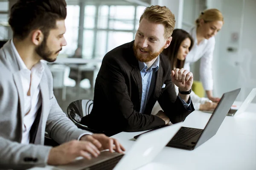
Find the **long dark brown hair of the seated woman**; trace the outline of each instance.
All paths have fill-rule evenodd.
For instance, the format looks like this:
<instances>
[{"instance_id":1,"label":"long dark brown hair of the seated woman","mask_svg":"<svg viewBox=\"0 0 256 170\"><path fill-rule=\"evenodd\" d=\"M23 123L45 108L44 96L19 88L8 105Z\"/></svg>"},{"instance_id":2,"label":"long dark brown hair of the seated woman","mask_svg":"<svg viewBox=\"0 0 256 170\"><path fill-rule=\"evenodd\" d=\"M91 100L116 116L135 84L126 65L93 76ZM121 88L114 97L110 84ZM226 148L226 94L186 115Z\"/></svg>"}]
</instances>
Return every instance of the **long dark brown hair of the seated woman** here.
<instances>
[{"instance_id":1,"label":"long dark brown hair of the seated woman","mask_svg":"<svg viewBox=\"0 0 256 170\"><path fill-rule=\"evenodd\" d=\"M169 47L164 49L162 52L163 54L166 54L166 56L169 58L171 62L172 70L174 70L174 68L184 67L185 60L181 61L177 59L177 54L178 54L181 43L186 38L189 38L191 41L191 45L189 47L189 51L190 51L194 45L194 40L191 37L191 35L188 32L184 31L183 29L175 29L172 33L172 41Z\"/></svg>"}]
</instances>

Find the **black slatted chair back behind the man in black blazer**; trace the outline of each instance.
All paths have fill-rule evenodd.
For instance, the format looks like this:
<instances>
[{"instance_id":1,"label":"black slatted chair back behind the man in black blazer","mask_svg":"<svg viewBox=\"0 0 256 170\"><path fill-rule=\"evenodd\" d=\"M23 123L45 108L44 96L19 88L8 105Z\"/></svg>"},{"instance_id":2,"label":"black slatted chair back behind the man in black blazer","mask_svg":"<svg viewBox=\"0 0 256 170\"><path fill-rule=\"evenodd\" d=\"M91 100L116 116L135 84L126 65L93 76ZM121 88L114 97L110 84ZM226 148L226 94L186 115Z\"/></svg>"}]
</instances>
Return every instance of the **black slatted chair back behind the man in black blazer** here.
<instances>
[{"instance_id":1,"label":"black slatted chair back behind the man in black blazer","mask_svg":"<svg viewBox=\"0 0 256 170\"><path fill-rule=\"evenodd\" d=\"M74 124L83 130L88 130L92 133L104 133L105 135L108 135L108 133L105 133L104 131L94 130L91 129L85 125L82 125L81 118L90 114L93 108L93 100L88 99L80 99L76 100L74 102L71 102L70 105L67 107L67 115L70 118Z\"/></svg>"}]
</instances>

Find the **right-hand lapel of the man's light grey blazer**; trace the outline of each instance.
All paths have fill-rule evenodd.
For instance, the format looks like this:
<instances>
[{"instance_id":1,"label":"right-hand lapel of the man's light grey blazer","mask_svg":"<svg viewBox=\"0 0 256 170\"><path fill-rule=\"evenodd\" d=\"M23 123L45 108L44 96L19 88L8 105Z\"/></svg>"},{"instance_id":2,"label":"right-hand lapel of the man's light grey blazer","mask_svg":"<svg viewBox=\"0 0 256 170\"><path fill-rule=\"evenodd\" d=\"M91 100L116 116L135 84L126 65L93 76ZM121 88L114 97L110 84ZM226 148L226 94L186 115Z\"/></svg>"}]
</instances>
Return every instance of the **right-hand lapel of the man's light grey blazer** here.
<instances>
[{"instance_id":1,"label":"right-hand lapel of the man's light grey blazer","mask_svg":"<svg viewBox=\"0 0 256 170\"><path fill-rule=\"evenodd\" d=\"M45 125L46 125L47 117L50 110L49 91L48 91L47 81L44 81L43 77L44 75L42 76L41 82L39 84L39 88L42 96L42 110L41 110L38 130L35 137L35 144L44 144Z\"/></svg>"}]
</instances>

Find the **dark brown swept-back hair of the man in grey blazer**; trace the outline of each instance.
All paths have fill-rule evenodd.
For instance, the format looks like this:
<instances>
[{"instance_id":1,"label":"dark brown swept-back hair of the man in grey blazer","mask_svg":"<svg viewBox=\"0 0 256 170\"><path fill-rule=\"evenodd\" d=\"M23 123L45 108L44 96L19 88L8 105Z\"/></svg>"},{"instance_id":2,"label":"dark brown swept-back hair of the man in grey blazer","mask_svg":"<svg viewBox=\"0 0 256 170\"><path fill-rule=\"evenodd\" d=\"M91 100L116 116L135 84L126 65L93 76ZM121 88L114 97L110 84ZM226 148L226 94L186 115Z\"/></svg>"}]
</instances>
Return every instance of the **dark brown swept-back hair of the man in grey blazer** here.
<instances>
[{"instance_id":1,"label":"dark brown swept-back hair of the man in grey blazer","mask_svg":"<svg viewBox=\"0 0 256 170\"><path fill-rule=\"evenodd\" d=\"M66 19L66 7L65 0L18 0L9 18L13 37L23 40L32 30L39 29L47 38L50 29L56 28L56 21Z\"/></svg>"}]
</instances>

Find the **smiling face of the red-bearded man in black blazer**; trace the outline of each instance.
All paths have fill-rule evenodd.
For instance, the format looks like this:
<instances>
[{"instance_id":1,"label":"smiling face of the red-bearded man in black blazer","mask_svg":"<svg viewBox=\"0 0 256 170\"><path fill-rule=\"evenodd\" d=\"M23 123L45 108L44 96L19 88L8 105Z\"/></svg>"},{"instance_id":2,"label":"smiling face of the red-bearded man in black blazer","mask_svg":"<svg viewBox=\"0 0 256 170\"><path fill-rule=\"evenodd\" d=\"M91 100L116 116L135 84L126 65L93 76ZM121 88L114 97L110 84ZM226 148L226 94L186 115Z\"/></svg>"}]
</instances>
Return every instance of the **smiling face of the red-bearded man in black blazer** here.
<instances>
[{"instance_id":1,"label":"smiling face of the red-bearded man in black blazer","mask_svg":"<svg viewBox=\"0 0 256 170\"><path fill-rule=\"evenodd\" d=\"M164 25L151 23L146 19L140 21L134 41L134 54L141 62L149 62L156 58L166 46Z\"/></svg>"}]
</instances>

